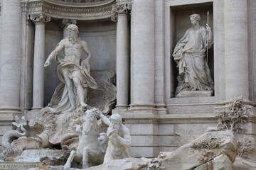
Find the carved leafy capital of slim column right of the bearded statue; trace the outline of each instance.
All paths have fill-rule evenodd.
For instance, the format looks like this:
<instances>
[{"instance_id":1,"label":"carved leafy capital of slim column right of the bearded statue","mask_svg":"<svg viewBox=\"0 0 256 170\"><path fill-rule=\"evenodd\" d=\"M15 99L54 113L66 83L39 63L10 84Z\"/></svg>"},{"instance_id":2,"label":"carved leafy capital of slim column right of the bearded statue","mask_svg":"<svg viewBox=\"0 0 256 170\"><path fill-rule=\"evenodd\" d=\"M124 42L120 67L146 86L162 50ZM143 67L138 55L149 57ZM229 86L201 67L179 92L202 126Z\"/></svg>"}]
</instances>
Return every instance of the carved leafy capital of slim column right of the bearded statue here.
<instances>
[{"instance_id":1,"label":"carved leafy capital of slim column right of the bearded statue","mask_svg":"<svg viewBox=\"0 0 256 170\"><path fill-rule=\"evenodd\" d=\"M121 5L114 5L112 6L112 11L114 14L111 16L111 20L117 22L117 18L121 14L128 15L132 10L132 4L121 4Z\"/></svg>"}]
</instances>

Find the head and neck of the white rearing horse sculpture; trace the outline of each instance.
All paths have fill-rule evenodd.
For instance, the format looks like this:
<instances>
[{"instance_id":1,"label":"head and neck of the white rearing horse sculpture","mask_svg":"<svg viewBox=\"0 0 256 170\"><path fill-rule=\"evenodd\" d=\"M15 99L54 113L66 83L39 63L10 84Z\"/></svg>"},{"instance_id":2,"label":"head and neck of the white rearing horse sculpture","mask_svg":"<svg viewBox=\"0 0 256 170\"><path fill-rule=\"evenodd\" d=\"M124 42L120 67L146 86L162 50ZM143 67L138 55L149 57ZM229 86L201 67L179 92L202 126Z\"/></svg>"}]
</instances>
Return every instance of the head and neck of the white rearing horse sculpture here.
<instances>
[{"instance_id":1,"label":"head and neck of the white rearing horse sculpture","mask_svg":"<svg viewBox=\"0 0 256 170\"><path fill-rule=\"evenodd\" d=\"M85 118L82 123L82 132L84 132L85 135L90 135L92 130L96 132L99 130L96 118L96 114L98 111L98 108L92 108L85 111Z\"/></svg>"}]
</instances>

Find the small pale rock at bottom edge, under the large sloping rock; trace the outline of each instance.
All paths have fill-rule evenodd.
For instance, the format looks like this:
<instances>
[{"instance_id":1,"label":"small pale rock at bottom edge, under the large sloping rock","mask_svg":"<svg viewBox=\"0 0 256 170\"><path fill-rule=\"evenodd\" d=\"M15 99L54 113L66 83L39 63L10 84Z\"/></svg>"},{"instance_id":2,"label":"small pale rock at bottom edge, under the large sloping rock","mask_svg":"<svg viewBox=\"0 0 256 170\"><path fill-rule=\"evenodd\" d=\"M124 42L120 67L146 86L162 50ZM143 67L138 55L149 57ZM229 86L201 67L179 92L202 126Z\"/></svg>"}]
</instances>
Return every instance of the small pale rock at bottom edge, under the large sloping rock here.
<instances>
[{"instance_id":1,"label":"small pale rock at bottom edge, under the large sloping rock","mask_svg":"<svg viewBox=\"0 0 256 170\"><path fill-rule=\"evenodd\" d=\"M206 169L232 170L232 162L230 162L230 159L225 154L221 154L220 156L215 157L215 159L213 159L212 161L196 167L194 170L206 170Z\"/></svg>"}]
</instances>

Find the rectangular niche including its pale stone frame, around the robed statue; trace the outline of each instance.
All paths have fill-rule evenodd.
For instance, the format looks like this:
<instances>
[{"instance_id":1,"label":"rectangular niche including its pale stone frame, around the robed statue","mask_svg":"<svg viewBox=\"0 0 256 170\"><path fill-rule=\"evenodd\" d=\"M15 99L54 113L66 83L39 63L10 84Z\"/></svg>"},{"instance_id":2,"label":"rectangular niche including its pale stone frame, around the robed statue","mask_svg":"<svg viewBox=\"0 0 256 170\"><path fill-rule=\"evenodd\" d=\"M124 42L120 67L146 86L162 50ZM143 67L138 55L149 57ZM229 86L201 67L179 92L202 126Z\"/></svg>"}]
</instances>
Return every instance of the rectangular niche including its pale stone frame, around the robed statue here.
<instances>
[{"instance_id":1,"label":"rectangular niche including its pale stone frame, around the robed statue","mask_svg":"<svg viewBox=\"0 0 256 170\"><path fill-rule=\"evenodd\" d=\"M206 26L207 12L209 11L209 26L213 31L213 40L215 42L214 27L214 8L213 1L185 1L166 2L166 98L174 98L177 86L178 69L177 64L172 57L174 47L178 40L185 34L186 30L191 27L189 16L198 13L201 16L201 25ZM215 82L215 43L213 47L208 50L208 66L210 68L210 75ZM169 64L167 64L169 63ZM215 91L213 96L215 96Z\"/></svg>"}]
</instances>

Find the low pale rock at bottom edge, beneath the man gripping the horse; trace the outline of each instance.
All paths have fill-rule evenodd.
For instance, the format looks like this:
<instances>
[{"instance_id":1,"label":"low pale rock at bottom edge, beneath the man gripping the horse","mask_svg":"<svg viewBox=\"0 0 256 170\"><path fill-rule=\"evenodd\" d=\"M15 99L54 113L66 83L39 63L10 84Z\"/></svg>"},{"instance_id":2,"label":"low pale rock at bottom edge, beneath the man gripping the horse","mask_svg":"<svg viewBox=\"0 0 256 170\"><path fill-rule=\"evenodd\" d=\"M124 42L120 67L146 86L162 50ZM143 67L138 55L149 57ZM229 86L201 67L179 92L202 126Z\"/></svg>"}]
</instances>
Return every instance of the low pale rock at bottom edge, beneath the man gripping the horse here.
<instances>
[{"instance_id":1,"label":"low pale rock at bottom edge, beneath the man gripping the horse","mask_svg":"<svg viewBox=\"0 0 256 170\"><path fill-rule=\"evenodd\" d=\"M87 170L135 170L135 169L144 169L147 167L147 164L151 159L142 158L126 158L126 159L116 159L106 164L99 166L90 167Z\"/></svg>"}]
</instances>

